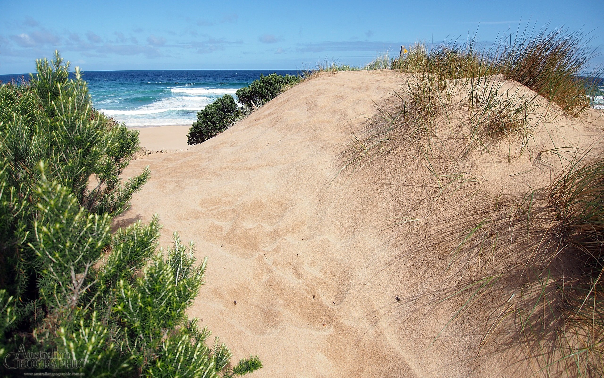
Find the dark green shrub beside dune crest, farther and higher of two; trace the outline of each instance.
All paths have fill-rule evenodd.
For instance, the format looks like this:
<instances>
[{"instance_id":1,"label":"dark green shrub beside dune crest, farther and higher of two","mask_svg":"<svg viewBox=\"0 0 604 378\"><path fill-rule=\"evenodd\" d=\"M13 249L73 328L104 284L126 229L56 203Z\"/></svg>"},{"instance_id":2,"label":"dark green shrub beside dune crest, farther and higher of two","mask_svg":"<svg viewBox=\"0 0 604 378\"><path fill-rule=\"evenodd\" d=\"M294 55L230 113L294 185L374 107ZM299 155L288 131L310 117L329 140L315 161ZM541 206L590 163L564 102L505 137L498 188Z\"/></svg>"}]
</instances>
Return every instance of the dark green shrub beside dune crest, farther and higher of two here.
<instances>
[{"instance_id":1,"label":"dark green shrub beside dune crest, farther and higher of two","mask_svg":"<svg viewBox=\"0 0 604 378\"><path fill-rule=\"evenodd\" d=\"M235 93L239 102L245 106L262 106L263 103L274 99L283 91L284 86L293 85L300 82L300 76L285 75L281 76L272 73L269 76L260 74L260 79L254 80L249 86L240 88Z\"/></svg>"}]
</instances>

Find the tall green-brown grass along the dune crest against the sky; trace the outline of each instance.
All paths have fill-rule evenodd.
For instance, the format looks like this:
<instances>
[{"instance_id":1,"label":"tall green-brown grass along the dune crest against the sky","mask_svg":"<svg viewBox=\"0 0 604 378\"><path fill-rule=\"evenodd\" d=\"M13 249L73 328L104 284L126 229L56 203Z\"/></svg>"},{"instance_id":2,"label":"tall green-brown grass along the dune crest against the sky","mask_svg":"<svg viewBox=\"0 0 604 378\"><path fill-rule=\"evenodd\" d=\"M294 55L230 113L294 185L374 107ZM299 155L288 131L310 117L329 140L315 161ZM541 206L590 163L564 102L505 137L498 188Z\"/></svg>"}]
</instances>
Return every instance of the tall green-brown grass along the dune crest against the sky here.
<instances>
[{"instance_id":1,"label":"tall green-brown grass along the dune crest against the sky","mask_svg":"<svg viewBox=\"0 0 604 378\"><path fill-rule=\"evenodd\" d=\"M503 74L527 86L567 116L579 116L590 106L585 93L590 79L580 77L595 56L590 39L564 28L525 29L505 35L492 48L479 48L475 39L443 42L428 49L416 44L409 52L391 60L391 68L402 72L429 71L445 79Z\"/></svg>"}]
</instances>

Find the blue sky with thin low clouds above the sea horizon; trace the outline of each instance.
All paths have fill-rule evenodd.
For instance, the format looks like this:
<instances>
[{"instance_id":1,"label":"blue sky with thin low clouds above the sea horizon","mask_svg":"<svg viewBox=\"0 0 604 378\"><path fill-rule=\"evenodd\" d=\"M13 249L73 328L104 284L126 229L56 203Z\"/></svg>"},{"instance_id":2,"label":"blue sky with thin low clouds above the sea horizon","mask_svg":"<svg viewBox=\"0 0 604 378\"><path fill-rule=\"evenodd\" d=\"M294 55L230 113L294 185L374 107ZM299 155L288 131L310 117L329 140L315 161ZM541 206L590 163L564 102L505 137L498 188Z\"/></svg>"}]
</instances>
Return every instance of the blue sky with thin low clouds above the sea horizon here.
<instances>
[{"instance_id":1,"label":"blue sky with thin low clouds above the sea horizon","mask_svg":"<svg viewBox=\"0 0 604 378\"><path fill-rule=\"evenodd\" d=\"M58 49L85 71L299 69L364 64L415 41L527 25L567 27L604 52L599 1L8 1L0 0L0 74L27 73ZM480 26L479 26L480 25ZM602 56L595 64L604 62Z\"/></svg>"}]
</instances>

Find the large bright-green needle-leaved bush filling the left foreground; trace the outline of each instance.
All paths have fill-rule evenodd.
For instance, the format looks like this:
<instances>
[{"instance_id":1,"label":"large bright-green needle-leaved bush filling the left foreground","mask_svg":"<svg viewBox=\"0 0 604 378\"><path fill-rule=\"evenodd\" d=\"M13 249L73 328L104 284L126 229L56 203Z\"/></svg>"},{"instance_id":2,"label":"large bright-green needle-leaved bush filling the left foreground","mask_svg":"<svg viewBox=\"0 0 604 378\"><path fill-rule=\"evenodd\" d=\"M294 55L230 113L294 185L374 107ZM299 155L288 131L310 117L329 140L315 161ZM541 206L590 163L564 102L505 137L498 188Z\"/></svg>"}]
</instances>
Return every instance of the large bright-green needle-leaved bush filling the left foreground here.
<instances>
[{"instance_id":1,"label":"large bright-green needle-leaved bush filling the left foreground","mask_svg":"<svg viewBox=\"0 0 604 378\"><path fill-rule=\"evenodd\" d=\"M157 250L159 223L111 233L148 169L122 183L138 134L91 108L79 68L37 60L29 83L0 86L2 376L216 377L231 353L188 320L205 260L193 245ZM13 370L14 368L14 370Z\"/></svg>"}]
</instances>

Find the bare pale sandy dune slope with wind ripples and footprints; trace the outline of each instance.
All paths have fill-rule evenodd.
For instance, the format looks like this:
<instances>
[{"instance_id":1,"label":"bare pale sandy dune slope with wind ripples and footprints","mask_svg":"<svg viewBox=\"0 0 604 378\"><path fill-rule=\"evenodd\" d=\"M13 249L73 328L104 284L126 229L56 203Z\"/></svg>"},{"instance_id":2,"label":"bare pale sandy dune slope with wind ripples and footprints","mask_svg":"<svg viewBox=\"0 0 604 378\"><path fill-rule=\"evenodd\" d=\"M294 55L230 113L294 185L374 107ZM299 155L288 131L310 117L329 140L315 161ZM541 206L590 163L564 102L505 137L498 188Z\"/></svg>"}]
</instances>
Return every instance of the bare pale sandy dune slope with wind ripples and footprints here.
<instances>
[{"instance_id":1,"label":"bare pale sandy dune slope with wind ripples and footprints","mask_svg":"<svg viewBox=\"0 0 604 378\"><path fill-rule=\"evenodd\" d=\"M190 316L220 336L234 359L258 354L265 368L255 376L501 377L538 370L509 336L513 322L475 358L490 314L512 301L521 282L472 299L474 307L442 333L468 297L439 301L492 274L463 256L447 270L452 250L464 230L494 212L502 187L503 198L515 198L547 182L551 171L543 167L555 165L552 158L539 165L538 152L511 163L477 158L454 167L468 179L444 189L425 165L402 165L402 157L330 180L336 155L366 121L359 115L374 114L374 102L404 80L391 71L324 74L201 145L128 168L133 174L149 165L152 178L118 224L158 213L162 244L178 231L196 242L198 258L209 256L207 283ZM554 124L534 148L600 132L564 119ZM495 260L489 269L509 269Z\"/></svg>"}]
</instances>

